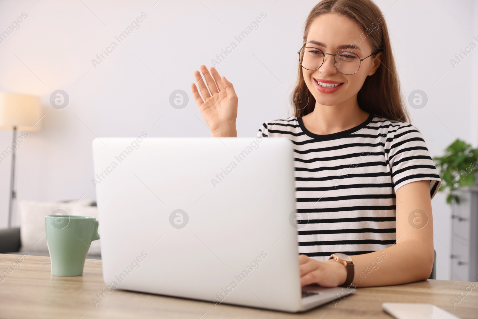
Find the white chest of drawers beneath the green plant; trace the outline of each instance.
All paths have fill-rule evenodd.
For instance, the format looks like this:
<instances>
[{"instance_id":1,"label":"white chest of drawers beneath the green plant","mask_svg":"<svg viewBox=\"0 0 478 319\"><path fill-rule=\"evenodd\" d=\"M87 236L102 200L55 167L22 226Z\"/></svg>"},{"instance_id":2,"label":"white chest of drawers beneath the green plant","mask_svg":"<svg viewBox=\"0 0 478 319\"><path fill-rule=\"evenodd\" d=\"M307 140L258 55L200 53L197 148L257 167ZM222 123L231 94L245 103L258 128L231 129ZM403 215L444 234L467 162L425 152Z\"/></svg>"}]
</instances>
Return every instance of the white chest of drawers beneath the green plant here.
<instances>
[{"instance_id":1,"label":"white chest of drawers beneath the green plant","mask_svg":"<svg viewBox=\"0 0 478 319\"><path fill-rule=\"evenodd\" d=\"M454 191L452 205L451 280L478 281L478 187Z\"/></svg>"}]
</instances>

